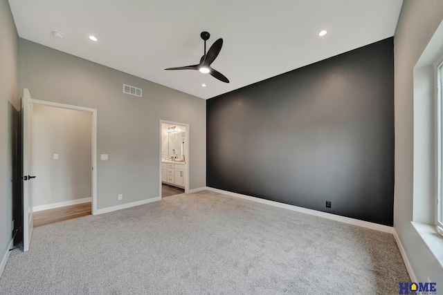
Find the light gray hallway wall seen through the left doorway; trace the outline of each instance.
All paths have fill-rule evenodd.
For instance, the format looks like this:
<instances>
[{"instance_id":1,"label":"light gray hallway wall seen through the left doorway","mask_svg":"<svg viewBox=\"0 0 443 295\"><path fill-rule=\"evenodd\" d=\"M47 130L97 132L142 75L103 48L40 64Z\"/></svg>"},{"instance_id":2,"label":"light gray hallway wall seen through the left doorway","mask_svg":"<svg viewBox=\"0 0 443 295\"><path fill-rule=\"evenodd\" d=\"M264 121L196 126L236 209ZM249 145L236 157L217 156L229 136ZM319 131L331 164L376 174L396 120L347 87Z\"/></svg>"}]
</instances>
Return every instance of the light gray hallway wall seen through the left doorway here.
<instances>
[{"instance_id":1,"label":"light gray hallway wall seen through the left doorway","mask_svg":"<svg viewBox=\"0 0 443 295\"><path fill-rule=\"evenodd\" d=\"M91 118L84 111L34 105L33 206L91 198Z\"/></svg>"}]
</instances>

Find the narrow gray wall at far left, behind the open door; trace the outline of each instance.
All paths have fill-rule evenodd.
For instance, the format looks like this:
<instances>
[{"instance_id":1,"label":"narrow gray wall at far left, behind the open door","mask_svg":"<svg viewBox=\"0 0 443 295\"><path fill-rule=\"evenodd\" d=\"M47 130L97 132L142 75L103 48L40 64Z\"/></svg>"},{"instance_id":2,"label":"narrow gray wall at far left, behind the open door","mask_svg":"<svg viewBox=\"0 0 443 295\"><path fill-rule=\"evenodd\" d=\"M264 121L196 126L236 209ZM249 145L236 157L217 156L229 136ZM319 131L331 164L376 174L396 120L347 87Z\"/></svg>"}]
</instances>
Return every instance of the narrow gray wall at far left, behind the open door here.
<instances>
[{"instance_id":1,"label":"narrow gray wall at far left, behind the open door","mask_svg":"<svg viewBox=\"0 0 443 295\"><path fill-rule=\"evenodd\" d=\"M0 263L12 238L12 114L17 100L18 37L7 0L0 0ZM15 108L15 110L14 110ZM1 270L0 270L1 271Z\"/></svg>"}]
</instances>

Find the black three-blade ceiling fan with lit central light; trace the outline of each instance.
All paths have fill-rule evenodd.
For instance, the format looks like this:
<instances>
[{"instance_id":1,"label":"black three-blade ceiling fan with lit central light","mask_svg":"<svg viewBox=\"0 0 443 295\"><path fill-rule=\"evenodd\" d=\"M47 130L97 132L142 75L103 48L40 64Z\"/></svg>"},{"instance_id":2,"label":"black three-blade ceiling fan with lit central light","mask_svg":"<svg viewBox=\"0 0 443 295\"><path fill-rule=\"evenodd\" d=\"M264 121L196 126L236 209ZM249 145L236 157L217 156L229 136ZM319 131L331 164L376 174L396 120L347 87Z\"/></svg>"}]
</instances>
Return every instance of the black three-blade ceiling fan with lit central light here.
<instances>
[{"instance_id":1,"label":"black three-blade ceiling fan with lit central light","mask_svg":"<svg viewBox=\"0 0 443 295\"><path fill-rule=\"evenodd\" d=\"M192 66L179 66L177 68L165 68L165 70L199 70L201 73L208 74L219 79L221 82L229 83L228 78L210 67L217 55L219 55L221 46L223 45L223 39L218 39L214 42L213 46L210 46L208 53L206 53L206 40L209 39L210 34L208 32L201 32L201 39L205 41L204 55L200 59L199 64Z\"/></svg>"}]
</instances>

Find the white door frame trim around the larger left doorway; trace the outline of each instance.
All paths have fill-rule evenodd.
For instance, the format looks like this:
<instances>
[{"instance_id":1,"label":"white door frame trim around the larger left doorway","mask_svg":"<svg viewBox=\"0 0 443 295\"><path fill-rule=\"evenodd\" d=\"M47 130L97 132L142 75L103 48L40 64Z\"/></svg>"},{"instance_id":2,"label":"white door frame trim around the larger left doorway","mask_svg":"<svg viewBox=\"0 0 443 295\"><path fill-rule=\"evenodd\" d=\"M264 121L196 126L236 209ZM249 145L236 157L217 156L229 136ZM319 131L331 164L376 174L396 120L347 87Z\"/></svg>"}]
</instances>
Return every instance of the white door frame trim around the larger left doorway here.
<instances>
[{"instance_id":1,"label":"white door frame trim around the larger left doorway","mask_svg":"<svg viewBox=\"0 0 443 295\"><path fill-rule=\"evenodd\" d=\"M57 102L46 102L44 100L33 99L33 104L39 104L42 106L53 106L55 108L66 108L68 110L83 111L91 113L92 122L92 200L91 200L91 213L92 215L97 214L97 109L96 108L85 108L83 106L72 106L71 104L59 104Z\"/></svg>"}]
</instances>

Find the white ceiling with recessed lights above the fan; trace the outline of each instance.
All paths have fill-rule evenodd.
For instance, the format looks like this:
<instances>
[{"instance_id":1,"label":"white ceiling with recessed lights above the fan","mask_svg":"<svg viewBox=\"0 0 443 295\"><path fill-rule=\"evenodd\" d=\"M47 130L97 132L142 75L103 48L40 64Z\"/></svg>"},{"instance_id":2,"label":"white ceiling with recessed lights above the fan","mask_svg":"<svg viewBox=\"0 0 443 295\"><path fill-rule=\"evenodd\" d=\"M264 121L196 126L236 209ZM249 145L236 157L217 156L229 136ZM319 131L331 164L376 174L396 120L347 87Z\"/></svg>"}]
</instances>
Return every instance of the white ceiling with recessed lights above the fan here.
<instances>
[{"instance_id":1,"label":"white ceiling with recessed lights above the fan","mask_svg":"<svg viewBox=\"0 0 443 295\"><path fill-rule=\"evenodd\" d=\"M204 99L391 37L402 2L9 0L20 37ZM164 70L198 64L204 30L208 48L224 39L212 66L229 84Z\"/></svg>"}]
</instances>

